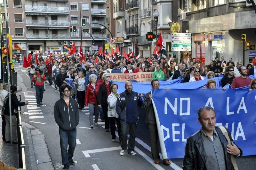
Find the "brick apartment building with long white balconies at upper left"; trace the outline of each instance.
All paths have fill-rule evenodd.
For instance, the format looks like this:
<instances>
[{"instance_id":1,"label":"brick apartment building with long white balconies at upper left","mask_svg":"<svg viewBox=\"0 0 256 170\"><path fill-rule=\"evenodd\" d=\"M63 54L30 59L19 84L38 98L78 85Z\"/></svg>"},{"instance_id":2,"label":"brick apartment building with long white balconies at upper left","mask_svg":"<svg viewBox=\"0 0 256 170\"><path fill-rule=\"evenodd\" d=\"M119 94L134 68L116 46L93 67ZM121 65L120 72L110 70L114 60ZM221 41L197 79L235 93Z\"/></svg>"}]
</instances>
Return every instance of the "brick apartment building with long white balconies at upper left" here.
<instances>
[{"instance_id":1,"label":"brick apartment building with long white balconies at upper left","mask_svg":"<svg viewBox=\"0 0 256 170\"><path fill-rule=\"evenodd\" d=\"M99 25L105 25L105 0L7 0L7 4L8 30L13 44L18 44L14 53L61 52L64 45L69 47L73 43L77 50L82 45L86 53L93 50L92 37L98 46L102 45L102 37L106 40L106 31L102 34ZM82 27L82 18L90 22L86 27ZM69 33L69 26L76 26L76 32ZM5 35L5 22L3 28Z\"/></svg>"}]
</instances>

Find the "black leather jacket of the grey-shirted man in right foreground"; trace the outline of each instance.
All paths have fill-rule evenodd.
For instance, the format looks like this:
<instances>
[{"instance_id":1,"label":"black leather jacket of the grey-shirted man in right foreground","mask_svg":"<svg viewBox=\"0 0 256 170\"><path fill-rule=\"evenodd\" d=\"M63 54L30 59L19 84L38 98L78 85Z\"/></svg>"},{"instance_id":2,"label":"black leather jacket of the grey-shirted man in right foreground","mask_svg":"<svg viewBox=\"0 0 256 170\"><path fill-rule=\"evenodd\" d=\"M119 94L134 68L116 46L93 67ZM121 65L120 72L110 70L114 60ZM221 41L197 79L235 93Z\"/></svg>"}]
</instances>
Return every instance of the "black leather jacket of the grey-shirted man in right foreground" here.
<instances>
[{"instance_id":1,"label":"black leather jacket of the grey-shirted man in right foreground","mask_svg":"<svg viewBox=\"0 0 256 170\"><path fill-rule=\"evenodd\" d=\"M227 128L226 128L227 129ZM224 150L224 158L226 163L226 170L234 170L234 167L231 163L230 154L227 152L227 144L228 141L226 137L222 134L220 128L215 127L215 130L217 131L220 142L222 145L222 148ZM228 131L228 129L227 129ZM230 141L233 141L231 138L231 134L228 131L228 136L230 138ZM187 144L185 148L185 157L183 159L183 169L195 169L195 170L207 170L206 167L206 156L204 152L203 147L203 140L201 138L201 131L197 131L194 135L189 136L187 138ZM241 151L240 157L243 155L243 151L238 148Z\"/></svg>"}]
</instances>

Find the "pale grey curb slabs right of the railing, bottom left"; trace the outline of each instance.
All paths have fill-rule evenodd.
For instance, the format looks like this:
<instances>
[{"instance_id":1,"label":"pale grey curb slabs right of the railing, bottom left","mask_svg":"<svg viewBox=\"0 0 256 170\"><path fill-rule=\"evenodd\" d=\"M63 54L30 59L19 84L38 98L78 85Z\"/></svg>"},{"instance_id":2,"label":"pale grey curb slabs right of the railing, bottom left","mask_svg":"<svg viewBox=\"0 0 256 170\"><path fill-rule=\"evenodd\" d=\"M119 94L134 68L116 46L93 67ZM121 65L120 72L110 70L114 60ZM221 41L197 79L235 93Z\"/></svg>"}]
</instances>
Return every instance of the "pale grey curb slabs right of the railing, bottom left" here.
<instances>
[{"instance_id":1,"label":"pale grey curb slabs right of the railing, bottom left","mask_svg":"<svg viewBox=\"0 0 256 170\"><path fill-rule=\"evenodd\" d=\"M31 168L33 170L54 170L44 134L28 123L21 123L27 132Z\"/></svg>"}]
</instances>

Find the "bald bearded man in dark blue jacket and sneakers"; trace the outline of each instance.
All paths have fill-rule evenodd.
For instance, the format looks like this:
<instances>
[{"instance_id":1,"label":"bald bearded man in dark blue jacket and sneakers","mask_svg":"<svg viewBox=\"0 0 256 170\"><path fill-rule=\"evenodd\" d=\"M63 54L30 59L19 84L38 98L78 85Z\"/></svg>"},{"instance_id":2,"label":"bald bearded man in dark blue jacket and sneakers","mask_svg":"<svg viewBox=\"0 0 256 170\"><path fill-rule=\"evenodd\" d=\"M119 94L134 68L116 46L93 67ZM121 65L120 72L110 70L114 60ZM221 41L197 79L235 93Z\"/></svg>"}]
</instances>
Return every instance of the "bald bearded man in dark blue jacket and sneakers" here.
<instances>
[{"instance_id":1,"label":"bald bearded man in dark blue jacket and sneakers","mask_svg":"<svg viewBox=\"0 0 256 170\"><path fill-rule=\"evenodd\" d=\"M139 122L139 111L138 107L142 106L142 101L140 95L132 91L132 82L125 82L125 91L118 96L116 101L116 112L119 115L121 123L121 147L120 155L124 155L127 148L127 135L130 135L128 143L128 153L130 155L136 155L134 152L135 147L135 133L137 128L137 123ZM119 137L120 138L120 137Z\"/></svg>"}]
</instances>

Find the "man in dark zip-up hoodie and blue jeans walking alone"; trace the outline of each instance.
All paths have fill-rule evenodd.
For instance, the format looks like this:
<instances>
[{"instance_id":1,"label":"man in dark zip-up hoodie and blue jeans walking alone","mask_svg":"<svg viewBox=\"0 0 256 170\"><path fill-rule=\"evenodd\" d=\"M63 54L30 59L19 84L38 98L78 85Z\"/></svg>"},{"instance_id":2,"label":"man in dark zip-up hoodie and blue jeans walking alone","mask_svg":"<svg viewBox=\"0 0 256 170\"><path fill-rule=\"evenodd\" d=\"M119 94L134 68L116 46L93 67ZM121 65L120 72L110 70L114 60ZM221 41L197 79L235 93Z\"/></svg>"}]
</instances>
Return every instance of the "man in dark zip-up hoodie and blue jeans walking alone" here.
<instances>
[{"instance_id":1,"label":"man in dark zip-up hoodie and blue jeans walking alone","mask_svg":"<svg viewBox=\"0 0 256 170\"><path fill-rule=\"evenodd\" d=\"M79 112L76 100L69 97L71 87L65 84L60 89L63 97L54 105L54 119L59 125L63 169L68 169L70 165L75 165L72 157L76 148L76 126L79 123Z\"/></svg>"}]
</instances>

